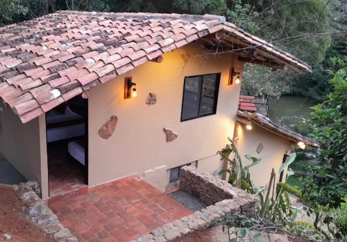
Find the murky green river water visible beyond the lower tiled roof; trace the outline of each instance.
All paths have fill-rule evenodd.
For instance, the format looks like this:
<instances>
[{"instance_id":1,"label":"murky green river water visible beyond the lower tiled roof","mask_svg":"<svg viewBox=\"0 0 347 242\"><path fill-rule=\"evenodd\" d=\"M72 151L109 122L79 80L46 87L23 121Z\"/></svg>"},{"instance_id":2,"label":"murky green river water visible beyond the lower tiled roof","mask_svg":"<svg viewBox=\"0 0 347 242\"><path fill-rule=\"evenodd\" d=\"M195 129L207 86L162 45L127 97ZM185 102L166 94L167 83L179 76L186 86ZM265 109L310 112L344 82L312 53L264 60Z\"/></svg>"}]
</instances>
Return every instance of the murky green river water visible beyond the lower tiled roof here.
<instances>
[{"instance_id":1,"label":"murky green river water visible beyond the lower tiled roof","mask_svg":"<svg viewBox=\"0 0 347 242\"><path fill-rule=\"evenodd\" d=\"M315 99L299 96L282 96L271 99L269 118L283 127L294 129L303 119L310 118L311 107L318 104Z\"/></svg>"}]
</instances>

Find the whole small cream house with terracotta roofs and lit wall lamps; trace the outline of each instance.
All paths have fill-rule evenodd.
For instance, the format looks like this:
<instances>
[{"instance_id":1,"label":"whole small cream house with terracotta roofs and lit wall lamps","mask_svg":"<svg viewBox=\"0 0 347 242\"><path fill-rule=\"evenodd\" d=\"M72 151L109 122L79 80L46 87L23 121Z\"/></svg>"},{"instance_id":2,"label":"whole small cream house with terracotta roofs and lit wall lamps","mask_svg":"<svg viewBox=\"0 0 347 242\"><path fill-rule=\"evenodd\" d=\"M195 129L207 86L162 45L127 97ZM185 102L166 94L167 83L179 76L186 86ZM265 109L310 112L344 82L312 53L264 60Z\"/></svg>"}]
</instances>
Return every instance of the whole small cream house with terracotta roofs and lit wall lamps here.
<instances>
[{"instance_id":1,"label":"whole small cream house with terracotta roofs and lit wall lamps","mask_svg":"<svg viewBox=\"0 0 347 242\"><path fill-rule=\"evenodd\" d=\"M311 70L216 15L58 11L0 27L0 153L46 200L130 175L166 191L181 166L217 174L238 136L265 184L291 145L316 144L238 111L245 63Z\"/></svg>"}]
</instances>

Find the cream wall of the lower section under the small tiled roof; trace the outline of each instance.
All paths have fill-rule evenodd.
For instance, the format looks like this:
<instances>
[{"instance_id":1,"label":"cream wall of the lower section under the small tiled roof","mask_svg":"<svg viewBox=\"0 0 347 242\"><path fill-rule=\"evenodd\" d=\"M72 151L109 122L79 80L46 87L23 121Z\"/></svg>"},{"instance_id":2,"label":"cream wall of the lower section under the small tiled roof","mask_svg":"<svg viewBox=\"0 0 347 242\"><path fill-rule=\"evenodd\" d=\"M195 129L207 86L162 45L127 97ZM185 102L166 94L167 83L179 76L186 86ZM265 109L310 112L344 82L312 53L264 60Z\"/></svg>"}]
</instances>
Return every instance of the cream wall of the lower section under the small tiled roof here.
<instances>
[{"instance_id":1,"label":"cream wall of the lower section under the small tiled roof","mask_svg":"<svg viewBox=\"0 0 347 242\"><path fill-rule=\"evenodd\" d=\"M256 166L250 168L251 180L255 186L266 186L269 183L272 168L276 172L276 180L280 175L278 170L282 165L283 156L290 149L292 143L286 138L266 131L253 124L252 130L247 130L244 124L237 127L237 149L242 157L242 161L247 163L245 155L255 156L261 161ZM257 153L257 146L262 143L264 149Z\"/></svg>"}]
</instances>

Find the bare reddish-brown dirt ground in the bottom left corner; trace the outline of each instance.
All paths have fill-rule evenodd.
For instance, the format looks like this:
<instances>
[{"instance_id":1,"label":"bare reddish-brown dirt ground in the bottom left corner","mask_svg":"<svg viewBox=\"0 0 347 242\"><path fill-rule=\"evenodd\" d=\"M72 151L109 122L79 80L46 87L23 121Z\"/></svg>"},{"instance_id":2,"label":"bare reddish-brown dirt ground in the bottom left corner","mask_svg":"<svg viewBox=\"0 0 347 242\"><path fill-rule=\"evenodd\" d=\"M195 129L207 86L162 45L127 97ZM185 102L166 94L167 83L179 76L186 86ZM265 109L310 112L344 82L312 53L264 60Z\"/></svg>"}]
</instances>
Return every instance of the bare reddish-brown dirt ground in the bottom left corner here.
<instances>
[{"instance_id":1,"label":"bare reddish-brown dirt ground in the bottom left corner","mask_svg":"<svg viewBox=\"0 0 347 242\"><path fill-rule=\"evenodd\" d=\"M0 241L53 242L53 237L31 222L26 205L17 198L12 188L0 186Z\"/></svg>"}]
</instances>

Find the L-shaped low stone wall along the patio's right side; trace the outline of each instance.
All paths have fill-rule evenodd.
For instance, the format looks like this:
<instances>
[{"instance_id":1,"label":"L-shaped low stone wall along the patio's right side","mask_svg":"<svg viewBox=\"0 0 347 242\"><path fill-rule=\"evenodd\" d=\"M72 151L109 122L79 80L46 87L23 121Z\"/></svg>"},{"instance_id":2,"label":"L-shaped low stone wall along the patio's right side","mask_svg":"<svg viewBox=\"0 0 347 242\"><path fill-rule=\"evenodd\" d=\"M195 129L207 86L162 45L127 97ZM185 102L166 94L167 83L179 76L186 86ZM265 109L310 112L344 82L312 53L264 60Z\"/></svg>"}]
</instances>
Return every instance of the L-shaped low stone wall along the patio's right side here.
<instances>
[{"instance_id":1,"label":"L-shaped low stone wall along the patio's right side","mask_svg":"<svg viewBox=\"0 0 347 242\"><path fill-rule=\"evenodd\" d=\"M210 206L163 227L157 227L137 239L137 242L171 241L196 230L205 229L213 220L232 213L246 213L250 216L255 214L255 195L234 188L228 182L192 166L180 168L180 188L199 197Z\"/></svg>"}]
</instances>

